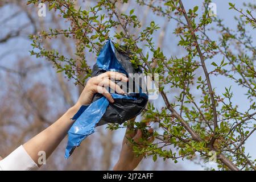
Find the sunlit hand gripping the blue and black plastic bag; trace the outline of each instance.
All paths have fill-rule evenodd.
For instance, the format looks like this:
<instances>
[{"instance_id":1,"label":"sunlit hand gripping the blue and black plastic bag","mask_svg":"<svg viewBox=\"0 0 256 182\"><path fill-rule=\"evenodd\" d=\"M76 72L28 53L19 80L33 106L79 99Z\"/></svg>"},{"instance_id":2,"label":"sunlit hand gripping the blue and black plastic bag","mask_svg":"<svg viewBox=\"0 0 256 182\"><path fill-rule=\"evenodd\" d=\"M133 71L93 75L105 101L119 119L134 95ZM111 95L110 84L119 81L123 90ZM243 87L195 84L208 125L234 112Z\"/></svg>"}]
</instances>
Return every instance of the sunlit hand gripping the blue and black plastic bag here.
<instances>
[{"instance_id":1,"label":"sunlit hand gripping the blue and black plastic bag","mask_svg":"<svg viewBox=\"0 0 256 182\"><path fill-rule=\"evenodd\" d=\"M111 94L106 88L104 88L104 86L109 86L109 88L115 90L115 92L119 94L124 94L125 92L111 79L120 80L122 82L128 81L128 78L124 74L110 71L102 73L96 77L92 77L88 80L79 100L76 103L76 106L80 108L82 105L90 104L95 93L101 93L109 100L109 102L113 103L114 100Z\"/></svg>"}]
</instances>

